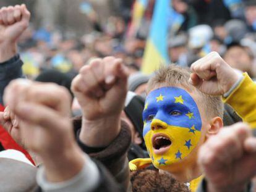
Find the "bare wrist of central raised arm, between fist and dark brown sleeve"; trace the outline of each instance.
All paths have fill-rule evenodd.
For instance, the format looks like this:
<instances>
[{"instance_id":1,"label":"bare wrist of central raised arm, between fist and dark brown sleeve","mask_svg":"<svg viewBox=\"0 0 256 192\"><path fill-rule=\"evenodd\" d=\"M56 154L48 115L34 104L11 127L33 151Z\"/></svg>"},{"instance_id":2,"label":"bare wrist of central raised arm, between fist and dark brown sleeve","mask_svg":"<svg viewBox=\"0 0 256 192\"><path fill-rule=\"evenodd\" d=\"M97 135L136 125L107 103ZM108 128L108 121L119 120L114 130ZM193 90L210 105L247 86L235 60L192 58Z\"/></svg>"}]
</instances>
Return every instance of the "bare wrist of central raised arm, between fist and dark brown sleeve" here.
<instances>
[{"instance_id":1,"label":"bare wrist of central raised arm, between fist and dark brown sleeve","mask_svg":"<svg viewBox=\"0 0 256 192\"><path fill-rule=\"evenodd\" d=\"M79 139L90 147L106 147L112 143L121 130L119 115L98 120L83 117Z\"/></svg>"}]
</instances>

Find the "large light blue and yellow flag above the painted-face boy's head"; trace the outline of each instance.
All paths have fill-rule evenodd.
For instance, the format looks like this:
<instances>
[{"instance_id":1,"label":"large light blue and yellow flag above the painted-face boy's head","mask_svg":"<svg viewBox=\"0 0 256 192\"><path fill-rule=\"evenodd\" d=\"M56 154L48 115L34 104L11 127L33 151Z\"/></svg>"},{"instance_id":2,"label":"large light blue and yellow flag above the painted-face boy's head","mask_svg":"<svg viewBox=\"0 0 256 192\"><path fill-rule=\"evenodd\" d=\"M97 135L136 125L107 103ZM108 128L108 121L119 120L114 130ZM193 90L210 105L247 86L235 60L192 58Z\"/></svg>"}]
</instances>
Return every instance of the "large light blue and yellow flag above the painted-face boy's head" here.
<instances>
[{"instance_id":1,"label":"large light blue and yellow flag above the painted-face boy's head","mask_svg":"<svg viewBox=\"0 0 256 192\"><path fill-rule=\"evenodd\" d=\"M142 62L142 72L152 73L160 64L169 62L168 57L168 16L171 0L156 0L150 34Z\"/></svg>"}]
</instances>

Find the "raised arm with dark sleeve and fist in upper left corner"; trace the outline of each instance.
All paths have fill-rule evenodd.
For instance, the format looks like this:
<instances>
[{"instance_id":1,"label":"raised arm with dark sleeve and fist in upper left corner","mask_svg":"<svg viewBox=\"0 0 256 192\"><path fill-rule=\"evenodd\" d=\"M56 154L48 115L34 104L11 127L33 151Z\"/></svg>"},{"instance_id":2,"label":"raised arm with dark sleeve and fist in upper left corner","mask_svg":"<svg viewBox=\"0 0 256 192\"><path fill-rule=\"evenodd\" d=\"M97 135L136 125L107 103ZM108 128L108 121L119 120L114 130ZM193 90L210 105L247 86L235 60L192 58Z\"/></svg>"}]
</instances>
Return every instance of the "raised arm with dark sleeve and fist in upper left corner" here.
<instances>
[{"instance_id":1,"label":"raised arm with dark sleeve and fist in upper left corner","mask_svg":"<svg viewBox=\"0 0 256 192\"><path fill-rule=\"evenodd\" d=\"M2 7L0 9L0 103L4 88L11 80L22 77L22 61L17 55L17 40L28 27L30 12L27 7Z\"/></svg>"}]
</instances>

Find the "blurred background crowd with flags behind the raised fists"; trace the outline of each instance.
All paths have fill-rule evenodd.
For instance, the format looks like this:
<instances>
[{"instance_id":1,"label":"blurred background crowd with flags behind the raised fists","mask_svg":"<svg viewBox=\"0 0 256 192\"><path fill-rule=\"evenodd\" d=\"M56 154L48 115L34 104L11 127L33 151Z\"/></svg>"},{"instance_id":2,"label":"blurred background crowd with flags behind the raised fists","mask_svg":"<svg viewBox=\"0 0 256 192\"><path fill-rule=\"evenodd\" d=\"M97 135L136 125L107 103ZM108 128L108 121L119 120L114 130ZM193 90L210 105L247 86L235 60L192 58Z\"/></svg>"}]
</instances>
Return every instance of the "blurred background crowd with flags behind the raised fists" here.
<instances>
[{"instance_id":1,"label":"blurred background crowd with flags behind the raised fists","mask_svg":"<svg viewBox=\"0 0 256 192\"><path fill-rule=\"evenodd\" d=\"M211 51L256 75L254 0L35 0L19 40L23 73L56 69L75 77L93 57L123 59L135 81L161 63L190 66ZM20 3L2 0L0 7ZM145 79L145 80L144 80ZM130 83L132 80L130 80ZM130 85L135 91L136 85ZM136 91L143 94L143 87Z\"/></svg>"}]
</instances>

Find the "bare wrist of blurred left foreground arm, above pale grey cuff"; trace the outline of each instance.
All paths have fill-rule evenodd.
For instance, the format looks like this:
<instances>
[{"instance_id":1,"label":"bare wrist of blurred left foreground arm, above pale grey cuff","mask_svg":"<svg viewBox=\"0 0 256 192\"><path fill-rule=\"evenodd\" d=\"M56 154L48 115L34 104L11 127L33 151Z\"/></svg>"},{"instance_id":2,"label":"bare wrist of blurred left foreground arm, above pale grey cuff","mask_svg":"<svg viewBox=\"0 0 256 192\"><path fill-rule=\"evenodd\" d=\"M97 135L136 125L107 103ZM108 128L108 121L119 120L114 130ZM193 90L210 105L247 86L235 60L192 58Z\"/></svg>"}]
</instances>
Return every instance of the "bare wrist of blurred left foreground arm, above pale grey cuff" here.
<instances>
[{"instance_id":1,"label":"bare wrist of blurred left foreground arm, above pale grey cuff","mask_svg":"<svg viewBox=\"0 0 256 192\"><path fill-rule=\"evenodd\" d=\"M49 182L62 182L77 175L83 168L85 158L75 143L56 156L42 157L45 175Z\"/></svg>"}]
</instances>

